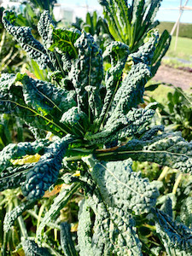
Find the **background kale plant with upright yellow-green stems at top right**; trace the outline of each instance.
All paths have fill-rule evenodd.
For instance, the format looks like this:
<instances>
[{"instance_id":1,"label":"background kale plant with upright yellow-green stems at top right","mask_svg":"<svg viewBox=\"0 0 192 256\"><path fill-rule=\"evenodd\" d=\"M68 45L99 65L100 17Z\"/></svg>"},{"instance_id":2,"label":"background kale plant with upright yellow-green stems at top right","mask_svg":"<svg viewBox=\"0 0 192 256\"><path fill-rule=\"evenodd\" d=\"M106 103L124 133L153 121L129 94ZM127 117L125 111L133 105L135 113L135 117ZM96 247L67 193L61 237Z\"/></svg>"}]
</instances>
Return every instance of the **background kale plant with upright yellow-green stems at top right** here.
<instances>
[{"instance_id":1,"label":"background kale plant with upright yellow-green stems at top right","mask_svg":"<svg viewBox=\"0 0 192 256\"><path fill-rule=\"evenodd\" d=\"M130 52L137 52L148 36L148 32L159 25L158 20L154 20L160 8L162 0L98 0L103 6L103 14L108 21L108 29L113 40L122 42L129 46ZM160 61L166 54L171 37L165 30L158 42L151 60L151 73L154 76L160 67ZM126 69L130 68L131 56L126 64Z\"/></svg>"}]
</instances>

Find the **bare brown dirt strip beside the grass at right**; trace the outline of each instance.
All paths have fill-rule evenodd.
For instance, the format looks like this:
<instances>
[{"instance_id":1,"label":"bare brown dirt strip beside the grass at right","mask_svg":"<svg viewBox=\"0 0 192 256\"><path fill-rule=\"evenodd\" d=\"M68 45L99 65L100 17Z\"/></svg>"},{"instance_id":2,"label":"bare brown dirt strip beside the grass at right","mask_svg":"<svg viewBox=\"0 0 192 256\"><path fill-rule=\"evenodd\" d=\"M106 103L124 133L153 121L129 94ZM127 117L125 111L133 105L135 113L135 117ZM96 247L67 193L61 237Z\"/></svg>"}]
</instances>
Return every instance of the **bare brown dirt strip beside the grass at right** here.
<instances>
[{"instance_id":1,"label":"bare brown dirt strip beside the grass at right","mask_svg":"<svg viewBox=\"0 0 192 256\"><path fill-rule=\"evenodd\" d=\"M154 80L166 84L173 84L181 87L183 90L189 90L192 87L192 73L165 65L160 66L154 76Z\"/></svg>"}]
</instances>

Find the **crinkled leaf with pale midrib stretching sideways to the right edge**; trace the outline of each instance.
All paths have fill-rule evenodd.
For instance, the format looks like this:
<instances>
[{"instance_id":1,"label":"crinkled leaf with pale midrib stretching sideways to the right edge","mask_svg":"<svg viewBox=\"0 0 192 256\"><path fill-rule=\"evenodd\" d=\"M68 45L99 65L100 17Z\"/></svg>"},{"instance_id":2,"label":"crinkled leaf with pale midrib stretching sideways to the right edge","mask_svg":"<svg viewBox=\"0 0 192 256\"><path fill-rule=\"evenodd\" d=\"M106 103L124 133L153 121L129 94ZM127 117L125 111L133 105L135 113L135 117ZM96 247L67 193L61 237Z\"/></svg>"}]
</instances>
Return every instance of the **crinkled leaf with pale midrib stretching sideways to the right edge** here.
<instances>
[{"instance_id":1,"label":"crinkled leaf with pale midrib stretching sideways to the right edge","mask_svg":"<svg viewBox=\"0 0 192 256\"><path fill-rule=\"evenodd\" d=\"M111 154L118 160L131 157L192 173L192 143L186 142L180 132L163 133L144 141L133 139Z\"/></svg>"}]
</instances>

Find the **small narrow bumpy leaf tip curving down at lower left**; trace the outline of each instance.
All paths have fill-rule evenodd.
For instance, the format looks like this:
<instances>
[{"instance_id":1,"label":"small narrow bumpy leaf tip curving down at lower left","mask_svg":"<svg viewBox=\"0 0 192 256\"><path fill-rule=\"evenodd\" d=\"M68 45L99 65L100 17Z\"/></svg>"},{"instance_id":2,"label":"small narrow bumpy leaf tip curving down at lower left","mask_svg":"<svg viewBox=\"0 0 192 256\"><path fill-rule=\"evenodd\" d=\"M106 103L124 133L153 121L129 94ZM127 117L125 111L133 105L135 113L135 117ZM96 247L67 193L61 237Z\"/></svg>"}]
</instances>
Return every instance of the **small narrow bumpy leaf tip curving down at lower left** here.
<instances>
[{"instance_id":1,"label":"small narrow bumpy leaf tip curving down at lower left","mask_svg":"<svg viewBox=\"0 0 192 256\"><path fill-rule=\"evenodd\" d=\"M22 212L31 209L34 205L34 201L22 203L20 206L15 207L11 212L7 212L3 220L3 230L8 232L14 225L15 220L20 217Z\"/></svg>"}]
</instances>

